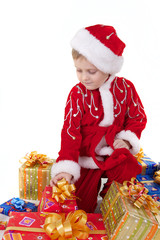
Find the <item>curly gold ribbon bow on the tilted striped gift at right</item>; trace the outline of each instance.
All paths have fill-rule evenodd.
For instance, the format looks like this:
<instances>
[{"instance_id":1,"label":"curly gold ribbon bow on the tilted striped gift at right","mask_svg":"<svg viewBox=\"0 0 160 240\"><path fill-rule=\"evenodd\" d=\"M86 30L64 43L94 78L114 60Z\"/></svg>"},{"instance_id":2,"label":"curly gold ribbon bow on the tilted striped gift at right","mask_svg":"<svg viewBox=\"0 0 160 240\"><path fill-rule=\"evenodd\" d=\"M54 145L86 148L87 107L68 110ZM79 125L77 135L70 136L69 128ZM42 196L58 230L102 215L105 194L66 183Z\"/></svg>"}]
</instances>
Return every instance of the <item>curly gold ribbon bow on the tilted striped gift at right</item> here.
<instances>
[{"instance_id":1,"label":"curly gold ribbon bow on the tilted striped gift at right","mask_svg":"<svg viewBox=\"0 0 160 240\"><path fill-rule=\"evenodd\" d=\"M154 214L159 213L159 204L147 194L148 189L144 187L143 183L138 182L136 178L132 178L131 181L124 181L120 192L125 197L130 198L136 207L144 206Z\"/></svg>"}]
</instances>

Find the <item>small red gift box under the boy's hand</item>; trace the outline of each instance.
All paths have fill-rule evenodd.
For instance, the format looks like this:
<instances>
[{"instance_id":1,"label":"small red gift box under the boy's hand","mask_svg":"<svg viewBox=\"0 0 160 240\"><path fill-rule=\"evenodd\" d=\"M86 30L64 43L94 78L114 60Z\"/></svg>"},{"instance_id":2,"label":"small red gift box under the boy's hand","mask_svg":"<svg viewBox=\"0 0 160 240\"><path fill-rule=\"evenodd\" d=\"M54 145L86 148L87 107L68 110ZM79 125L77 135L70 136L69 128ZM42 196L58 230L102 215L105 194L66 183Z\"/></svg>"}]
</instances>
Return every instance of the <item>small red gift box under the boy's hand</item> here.
<instances>
[{"instance_id":1,"label":"small red gift box under the boy's hand","mask_svg":"<svg viewBox=\"0 0 160 240\"><path fill-rule=\"evenodd\" d=\"M77 210L75 198L66 199L63 203L57 202L52 198L52 187L46 186L38 206L38 212L64 212L68 213Z\"/></svg>"}]
</instances>

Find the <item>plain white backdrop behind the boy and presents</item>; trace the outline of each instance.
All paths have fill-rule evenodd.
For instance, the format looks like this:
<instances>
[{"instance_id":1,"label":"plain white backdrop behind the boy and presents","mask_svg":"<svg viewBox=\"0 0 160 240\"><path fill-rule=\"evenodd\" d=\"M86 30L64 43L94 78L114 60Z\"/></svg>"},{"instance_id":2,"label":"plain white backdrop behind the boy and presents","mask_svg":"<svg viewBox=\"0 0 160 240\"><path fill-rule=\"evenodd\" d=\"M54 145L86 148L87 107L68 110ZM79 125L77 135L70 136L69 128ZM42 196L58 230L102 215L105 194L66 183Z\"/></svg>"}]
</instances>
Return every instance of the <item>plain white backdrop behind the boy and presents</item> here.
<instances>
[{"instance_id":1,"label":"plain white backdrop behind the boy and presents","mask_svg":"<svg viewBox=\"0 0 160 240\"><path fill-rule=\"evenodd\" d=\"M160 161L159 1L1 0L0 203L18 196L27 152L57 157L66 97L77 83L70 40L97 23L113 25L126 43L118 75L137 88L148 116L141 145Z\"/></svg>"}]
</instances>

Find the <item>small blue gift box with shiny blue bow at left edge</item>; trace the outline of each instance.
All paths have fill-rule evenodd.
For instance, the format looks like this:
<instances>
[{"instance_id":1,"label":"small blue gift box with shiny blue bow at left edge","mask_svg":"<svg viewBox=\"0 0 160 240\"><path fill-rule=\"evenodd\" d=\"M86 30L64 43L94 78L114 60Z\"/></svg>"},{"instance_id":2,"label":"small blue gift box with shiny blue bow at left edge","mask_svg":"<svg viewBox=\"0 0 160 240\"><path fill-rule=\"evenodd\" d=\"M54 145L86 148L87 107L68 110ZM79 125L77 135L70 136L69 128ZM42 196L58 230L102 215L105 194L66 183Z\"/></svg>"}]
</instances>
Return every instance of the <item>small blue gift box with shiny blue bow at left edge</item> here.
<instances>
[{"instance_id":1,"label":"small blue gift box with shiny blue bow at left edge","mask_svg":"<svg viewBox=\"0 0 160 240\"><path fill-rule=\"evenodd\" d=\"M37 205L20 198L12 198L0 205L0 213L9 216L10 212L37 212Z\"/></svg>"}]
</instances>

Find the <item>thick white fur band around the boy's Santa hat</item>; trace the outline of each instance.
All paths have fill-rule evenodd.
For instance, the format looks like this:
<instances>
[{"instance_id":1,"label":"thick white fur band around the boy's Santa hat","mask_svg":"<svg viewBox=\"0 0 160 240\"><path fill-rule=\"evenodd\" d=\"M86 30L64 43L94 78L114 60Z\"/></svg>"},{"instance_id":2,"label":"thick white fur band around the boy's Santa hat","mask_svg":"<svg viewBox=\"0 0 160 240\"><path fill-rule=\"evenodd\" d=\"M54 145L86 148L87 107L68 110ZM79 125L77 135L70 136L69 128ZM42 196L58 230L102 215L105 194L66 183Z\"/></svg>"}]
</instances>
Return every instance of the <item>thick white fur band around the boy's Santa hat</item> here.
<instances>
[{"instance_id":1,"label":"thick white fur band around the boy's Santa hat","mask_svg":"<svg viewBox=\"0 0 160 240\"><path fill-rule=\"evenodd\" d=\"M114 54L84 28L72 39L71 47L104 73L118 73L123 65L123 56Z\"/></svg>"}]
</instances>

